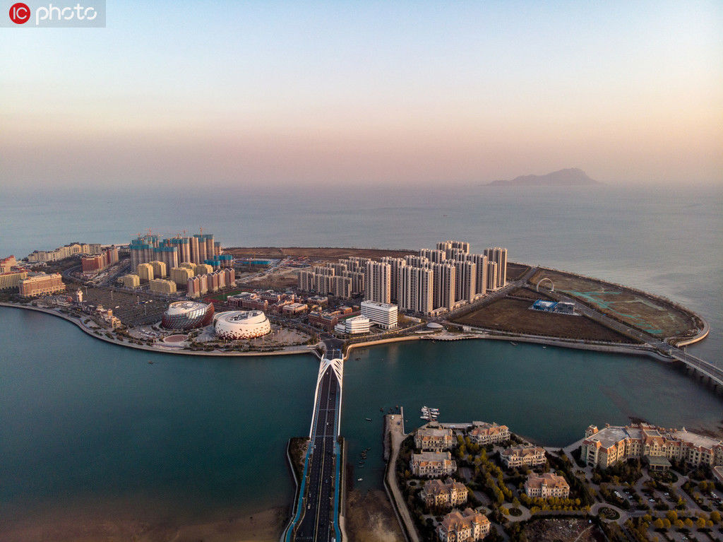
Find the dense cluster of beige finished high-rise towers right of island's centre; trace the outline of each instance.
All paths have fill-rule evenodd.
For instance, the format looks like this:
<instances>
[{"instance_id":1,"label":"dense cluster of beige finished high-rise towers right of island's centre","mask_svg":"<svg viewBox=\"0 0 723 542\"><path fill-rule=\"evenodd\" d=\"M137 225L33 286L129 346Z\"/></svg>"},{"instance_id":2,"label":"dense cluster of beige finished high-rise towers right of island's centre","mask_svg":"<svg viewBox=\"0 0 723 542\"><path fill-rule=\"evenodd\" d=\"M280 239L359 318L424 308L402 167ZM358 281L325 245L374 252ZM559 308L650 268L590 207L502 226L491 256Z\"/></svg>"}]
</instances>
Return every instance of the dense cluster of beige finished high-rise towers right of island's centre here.
<instances>
[{"instance_id":1,"label":"dense cluster of beige finished high-rise towers right of island's centre","mask_svg":"<svg viewBox=\"0 0 723 542\"><path fill-rule=\"evenodd\" d=\"M433 314L472 302L507 284L507 249L471 254L469 242L438 242L404 258L346 258L299 272L299 289L397 303L401 310Z\"/></svg>"}]
</instances>

